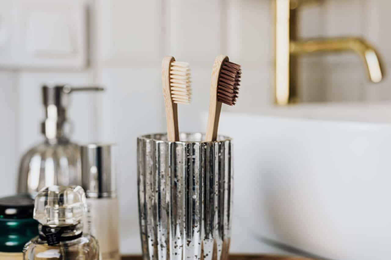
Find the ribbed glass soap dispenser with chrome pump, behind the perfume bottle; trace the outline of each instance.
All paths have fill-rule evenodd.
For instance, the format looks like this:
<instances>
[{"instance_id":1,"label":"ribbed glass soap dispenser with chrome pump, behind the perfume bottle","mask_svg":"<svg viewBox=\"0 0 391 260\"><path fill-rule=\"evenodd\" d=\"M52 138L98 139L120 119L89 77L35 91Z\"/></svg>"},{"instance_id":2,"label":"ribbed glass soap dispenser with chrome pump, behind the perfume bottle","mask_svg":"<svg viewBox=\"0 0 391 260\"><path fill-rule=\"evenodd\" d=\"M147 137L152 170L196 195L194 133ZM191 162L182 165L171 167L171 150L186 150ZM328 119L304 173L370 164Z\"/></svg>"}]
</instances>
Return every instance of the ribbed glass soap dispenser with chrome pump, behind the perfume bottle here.
<instances>
[{"instance_id":1,"label":"ribbed glass soap dispenser with chrome pump, behind the perfume bottle","mask_svg":"<svg viewBox=\"0 0 391 260\"><path fill-rule=\"evenodd\" d=\"M34 198L43 187L81 185L79 146L69 140L70 123L66 116L73 92L103 91L101 87L44 85L43 105L46 119L41 123L45 141L31 148L20 161L18 192Z\"/></svg>"}]
</instances>

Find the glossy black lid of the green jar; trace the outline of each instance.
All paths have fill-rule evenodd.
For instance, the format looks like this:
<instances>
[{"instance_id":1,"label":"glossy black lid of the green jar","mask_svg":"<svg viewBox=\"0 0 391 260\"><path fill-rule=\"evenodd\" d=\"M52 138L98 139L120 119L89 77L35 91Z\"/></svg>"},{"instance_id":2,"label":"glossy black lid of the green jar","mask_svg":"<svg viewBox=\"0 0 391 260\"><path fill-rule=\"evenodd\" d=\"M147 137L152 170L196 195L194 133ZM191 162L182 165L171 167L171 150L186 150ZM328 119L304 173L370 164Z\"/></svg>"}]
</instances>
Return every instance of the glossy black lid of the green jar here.
<instances>
[{"instance_id":1,"label":"glossy black lid of the green jar","mask_svg":"<svg viewBox=\"0 0 391 260\"><path fill-rule=\"evenodd\" d=\"M27 194L0 198L0 219L32 219L34 201Z\"/></svg>"}]
</instances>

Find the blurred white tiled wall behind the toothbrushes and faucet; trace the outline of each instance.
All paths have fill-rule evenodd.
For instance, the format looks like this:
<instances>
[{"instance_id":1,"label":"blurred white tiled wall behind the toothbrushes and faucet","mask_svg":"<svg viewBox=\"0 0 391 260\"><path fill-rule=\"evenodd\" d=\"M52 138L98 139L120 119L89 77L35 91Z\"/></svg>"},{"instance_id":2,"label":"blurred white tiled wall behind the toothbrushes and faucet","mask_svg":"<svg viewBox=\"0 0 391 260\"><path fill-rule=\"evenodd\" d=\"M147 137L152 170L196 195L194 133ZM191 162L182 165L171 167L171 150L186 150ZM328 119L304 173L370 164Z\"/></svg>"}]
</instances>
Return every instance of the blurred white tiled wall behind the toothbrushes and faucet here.
<instances>
[{"instance_id":1,"label":"blurred white tiled wall behind the toothbrushes and faucet","mask_svg":"<svg viewBox=\"0 0 391 260\"><path fill-rule=\"evenodd\" d=\"M22 0L14 0L18 2ZM76 0L77 1L77 0ZM0 69L0 196L16 187L18 158L39 142L44 111L43 82L101 84L103 94L72 94L69 118L72 139L114 141L120 146L120 206L124 253L140 250L136 204L136 136L165 131L160 66L163 55L188 61L192 67L194 98L179 113L184 131L203 131L199 114L208 109L213 59L226 53L242 64L239 103L226 110L252 112L271 105L273 21L270 0L89 0L90 66L77 70ZM0 0L0 5L10 1ZM388 0L324 0L301 11L301 34L364 36L390 64L391 38ZM0 53L3 16L0 6ZM11 32L12 33L12 32ZM2 54L2 55L3 55ZM0 55L0 59L2 59ZM5 56L3 56L5 57ZM301 59L305 101L391 100L390 80L368 83L364 65L348 53ZM235 187L240 189L240 187ZM236 191L240 192L240 190ZM132 246L129 247L129 244ZM242 243L243 244L243 243ZM233 248L238 249L233 244Z\"/></svg>"}]
</instances>

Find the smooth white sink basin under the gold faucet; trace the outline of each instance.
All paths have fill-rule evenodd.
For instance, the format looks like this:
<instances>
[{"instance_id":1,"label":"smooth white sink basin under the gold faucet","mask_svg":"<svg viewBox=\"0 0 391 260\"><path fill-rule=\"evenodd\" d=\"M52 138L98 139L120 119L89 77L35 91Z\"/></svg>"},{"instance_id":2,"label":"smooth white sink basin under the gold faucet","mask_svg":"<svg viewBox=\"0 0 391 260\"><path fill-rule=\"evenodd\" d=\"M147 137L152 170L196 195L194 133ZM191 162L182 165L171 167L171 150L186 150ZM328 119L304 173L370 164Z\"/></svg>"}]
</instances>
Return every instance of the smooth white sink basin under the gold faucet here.
<instances>
[{"instance_id":1,"label":"smooth white sink basin under the gold faucet","mask_svg":"<svg viewBox=\"0 0 391 260\"><path fill-rule=\"evenodd\" d=\"M234 139L234 230L325 258L391 258L391 123L223 113L219 133Z\"/></svg>"}]
</instances>

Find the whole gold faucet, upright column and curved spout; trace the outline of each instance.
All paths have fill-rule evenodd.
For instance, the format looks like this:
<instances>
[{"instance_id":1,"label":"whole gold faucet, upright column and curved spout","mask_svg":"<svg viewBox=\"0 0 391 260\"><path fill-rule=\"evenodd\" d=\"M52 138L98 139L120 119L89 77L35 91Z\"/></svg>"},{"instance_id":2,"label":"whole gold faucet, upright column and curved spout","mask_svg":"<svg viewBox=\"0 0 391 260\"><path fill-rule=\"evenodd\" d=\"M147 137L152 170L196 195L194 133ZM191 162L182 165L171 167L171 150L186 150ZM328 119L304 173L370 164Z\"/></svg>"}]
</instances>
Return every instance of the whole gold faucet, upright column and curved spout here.
<instances>
[{"instance_id":1,"label":"whole gold faucet, upright column and curved spout","mask_svg":"<svg viewBox=\"0 0 391 260\"><path fill-rule=\"evenodd\" d=\"M278 105L300 102L297 85L297 55L315 52L352 51L364 64L368 78L377 83L384 77L375 48L360 37L298 39L297 9L316 0L274 0L275 5L275 102Z\"/></svg>"}]
</instances>

